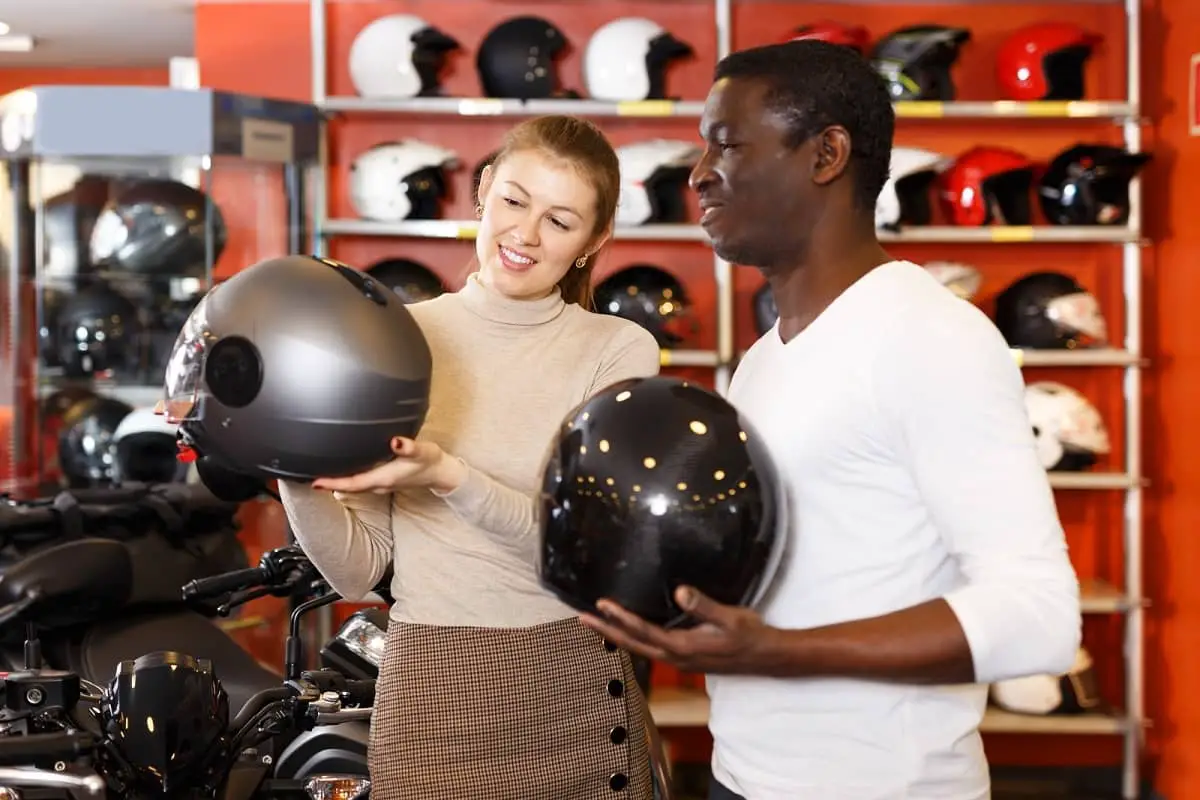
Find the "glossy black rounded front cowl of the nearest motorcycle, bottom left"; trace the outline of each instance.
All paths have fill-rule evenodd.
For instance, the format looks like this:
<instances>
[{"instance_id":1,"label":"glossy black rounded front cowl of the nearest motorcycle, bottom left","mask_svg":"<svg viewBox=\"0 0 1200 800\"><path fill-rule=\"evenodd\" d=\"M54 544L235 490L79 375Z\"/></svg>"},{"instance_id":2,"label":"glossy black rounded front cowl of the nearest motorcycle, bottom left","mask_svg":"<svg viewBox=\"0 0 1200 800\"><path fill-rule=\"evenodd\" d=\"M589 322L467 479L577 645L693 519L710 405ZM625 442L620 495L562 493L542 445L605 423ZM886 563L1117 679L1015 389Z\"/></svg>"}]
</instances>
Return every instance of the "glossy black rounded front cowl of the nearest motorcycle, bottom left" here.
<instances>
[{"instance_id":1,"label":"glossy black rounded front cowl of the nearest motorcycle, bottom left","mask_svg":"<svg viewBox=\"0 0 1200 800\"><path fill-rule=\"evenodd\" d=\"M139 788L172 796L205 784L229 727L229 697L211 662L151 652L116 667L100 714Z\"/></svg>"}]
</instances>

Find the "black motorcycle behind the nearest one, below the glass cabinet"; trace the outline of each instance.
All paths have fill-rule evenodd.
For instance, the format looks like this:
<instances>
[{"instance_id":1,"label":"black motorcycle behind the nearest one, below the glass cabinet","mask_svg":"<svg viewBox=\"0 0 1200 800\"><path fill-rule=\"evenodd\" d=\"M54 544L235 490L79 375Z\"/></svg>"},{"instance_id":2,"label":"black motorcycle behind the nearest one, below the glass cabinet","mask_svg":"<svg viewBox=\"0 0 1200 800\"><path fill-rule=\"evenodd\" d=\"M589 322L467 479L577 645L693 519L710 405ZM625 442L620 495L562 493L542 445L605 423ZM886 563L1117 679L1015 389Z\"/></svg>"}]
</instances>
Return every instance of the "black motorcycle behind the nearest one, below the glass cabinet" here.
<instances>
[{"instance_id":1,"label":"black motorcycle behind the nearest one, below the glass cabinet","mask_svg":"<svg viewBox=\"0 0 1200 800\"><path fill-rule=\"evenodd\" d=\"M43 663L94 685L114 663L175 650L218 663L235 708L277 686L278 674L214 624L218 608L180 597L187 581L247 565L236 511L203 486L180 483L0 503L0 595L24 603L0 609L0 670L25 660L22 626L4 624L20 615L37 627ZM90 552L85 537L120 541L125 555L90 560L80 552Z\"/></svg>"}]
</instances>

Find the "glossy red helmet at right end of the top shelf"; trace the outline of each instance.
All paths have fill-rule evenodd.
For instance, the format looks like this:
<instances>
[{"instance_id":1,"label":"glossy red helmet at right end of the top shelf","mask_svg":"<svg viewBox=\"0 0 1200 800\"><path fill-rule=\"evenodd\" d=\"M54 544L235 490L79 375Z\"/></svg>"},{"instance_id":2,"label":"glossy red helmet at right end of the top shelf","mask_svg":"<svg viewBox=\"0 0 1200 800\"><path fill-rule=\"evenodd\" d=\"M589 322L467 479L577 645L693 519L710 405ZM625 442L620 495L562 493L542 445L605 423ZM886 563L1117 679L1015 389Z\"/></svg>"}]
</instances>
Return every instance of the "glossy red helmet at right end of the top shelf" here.
<instances>
[{"instance_id":1,"label":"glossy red helmet at right end of the top shelf","mask_svg":"<svg viewBox=\"0 0 1200 800\"><path fill-rule=\"evenodd\" d=\"M1034 23L1010 34L996 55L1006 100L1082 100L1084 64L1103 41L1074 23Z\"/></svg>"}]
</instances>

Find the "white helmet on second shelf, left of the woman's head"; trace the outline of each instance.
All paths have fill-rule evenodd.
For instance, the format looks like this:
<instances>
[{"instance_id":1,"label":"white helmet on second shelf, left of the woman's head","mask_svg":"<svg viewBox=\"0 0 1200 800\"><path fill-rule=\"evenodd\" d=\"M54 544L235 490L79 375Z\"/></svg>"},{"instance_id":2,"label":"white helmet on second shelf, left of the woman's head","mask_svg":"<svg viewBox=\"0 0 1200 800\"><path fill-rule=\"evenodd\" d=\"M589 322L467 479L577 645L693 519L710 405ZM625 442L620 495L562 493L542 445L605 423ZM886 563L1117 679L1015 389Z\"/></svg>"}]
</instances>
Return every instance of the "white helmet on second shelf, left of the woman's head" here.
<instances>
[{"instance_id":1,"label":"white helmet on second shelf, left of the woman's head","mask_svg":"<svg viewBox=\"0 0 1200 800\"><path fill-rule=\"evenodd\" d=\"M446 169L458 166L452 150L419 139L377 144L350 164L350 205L364 219L437 219L446 193Z\"/></svg>"}]
</instances>

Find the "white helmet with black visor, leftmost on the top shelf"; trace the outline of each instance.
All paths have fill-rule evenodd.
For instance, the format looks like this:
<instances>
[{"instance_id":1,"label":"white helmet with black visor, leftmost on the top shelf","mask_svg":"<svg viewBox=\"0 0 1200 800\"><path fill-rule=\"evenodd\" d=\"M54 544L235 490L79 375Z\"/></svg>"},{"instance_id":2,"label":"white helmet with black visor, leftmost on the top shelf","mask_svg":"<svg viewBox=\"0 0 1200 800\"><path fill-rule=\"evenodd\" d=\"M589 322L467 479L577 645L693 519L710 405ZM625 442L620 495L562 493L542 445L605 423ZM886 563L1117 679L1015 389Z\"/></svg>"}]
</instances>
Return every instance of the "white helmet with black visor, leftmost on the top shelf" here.
<instances>
[{"instance_id":1,"label":"white helmet with black visor, leftmost on the top shelf","mask_svg":"<svg viewBox=\"0 0 1200 800\"><path fill-rule=\"evenodd\" d=\"M379 17L350 44L350 83L360 97L408 100L436 95L445 54L458 47L420 17Z\"/></svg>"}]
</instances>

